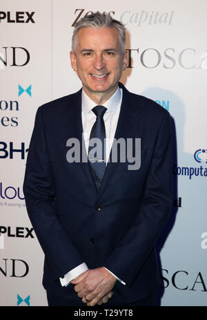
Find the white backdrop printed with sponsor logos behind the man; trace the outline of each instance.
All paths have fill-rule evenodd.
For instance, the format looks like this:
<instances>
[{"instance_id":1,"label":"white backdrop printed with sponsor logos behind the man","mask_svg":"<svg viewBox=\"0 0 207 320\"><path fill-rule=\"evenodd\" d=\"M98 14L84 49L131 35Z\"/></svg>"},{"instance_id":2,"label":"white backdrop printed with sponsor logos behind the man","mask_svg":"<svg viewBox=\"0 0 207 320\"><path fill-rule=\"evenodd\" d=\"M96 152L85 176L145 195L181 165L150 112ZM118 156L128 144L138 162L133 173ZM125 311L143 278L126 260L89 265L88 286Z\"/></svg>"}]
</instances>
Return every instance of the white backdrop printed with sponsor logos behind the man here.
<instances>
[{"instance_id":1,"label":"white backdrop printed with sponsor logos behind the man","mask_svg":"<svg viewBox=\"0 0 207 320\"><path fill-rule=\"evenodd\" d=\"M172 116L175 202L157 243L160 305L207 305L206 0L1 0L0 305L47 305L22 190L28 145L37 108L81 88L72 25L97 10L128 29L121 82Z\"/></svg>"}]
</instances>

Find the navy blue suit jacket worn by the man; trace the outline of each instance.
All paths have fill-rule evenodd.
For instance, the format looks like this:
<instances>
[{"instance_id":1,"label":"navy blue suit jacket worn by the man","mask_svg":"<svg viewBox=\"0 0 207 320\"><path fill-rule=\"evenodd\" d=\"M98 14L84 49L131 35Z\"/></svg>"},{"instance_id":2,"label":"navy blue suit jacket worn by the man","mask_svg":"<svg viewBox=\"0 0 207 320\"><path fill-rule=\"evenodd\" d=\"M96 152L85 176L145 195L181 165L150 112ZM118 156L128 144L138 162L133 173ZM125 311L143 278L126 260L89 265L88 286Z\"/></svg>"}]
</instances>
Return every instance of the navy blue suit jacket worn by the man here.
<instances>
[{"instance_id":1,"label":"navy blue suit jacket worn by the man","mask_svg":"<svg viewBox=\"0 0 207 320\"><path fill-rule=\"evenodd\" d=\"M115 138L141 138L141 167L109 162L99 193L88 163L66 160L67 140L82 140L81 91L37 111L23 191L46 256L43 285L55 294L70 297L73 285L61 287L59 277L83 261L123 280L126 285L117 281L113 291L124 302L144 299L159 286L155 241L172 205L170 115L119 86Z\"/></svg>"}]
</instances>

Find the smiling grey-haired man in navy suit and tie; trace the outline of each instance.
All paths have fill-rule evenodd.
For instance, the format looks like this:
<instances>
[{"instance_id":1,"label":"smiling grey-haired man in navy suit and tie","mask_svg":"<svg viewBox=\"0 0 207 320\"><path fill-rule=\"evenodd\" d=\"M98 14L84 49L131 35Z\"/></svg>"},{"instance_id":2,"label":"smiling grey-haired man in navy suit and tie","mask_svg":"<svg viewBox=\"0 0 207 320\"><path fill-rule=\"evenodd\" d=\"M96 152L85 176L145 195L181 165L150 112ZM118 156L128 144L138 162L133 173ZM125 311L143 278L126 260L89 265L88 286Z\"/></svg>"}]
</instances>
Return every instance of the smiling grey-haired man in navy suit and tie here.
<instances>
[{"instance_id":1,"label":"smiling grey-haired man in navy suit and tie","mask_svg":"<svg viewBox=\"0 0 207 320\"><path fill-rule=\"evenodd\" d=\"M38 109L23 186L48 304L155 305L155 241L172 204L170 115L119 83L125 29L109 15L76 24L70 60L83 88ZM133 141L135 162L141 140L141 166L121 148L113 161L119 139Z\"/></svg>"}]
</instances>

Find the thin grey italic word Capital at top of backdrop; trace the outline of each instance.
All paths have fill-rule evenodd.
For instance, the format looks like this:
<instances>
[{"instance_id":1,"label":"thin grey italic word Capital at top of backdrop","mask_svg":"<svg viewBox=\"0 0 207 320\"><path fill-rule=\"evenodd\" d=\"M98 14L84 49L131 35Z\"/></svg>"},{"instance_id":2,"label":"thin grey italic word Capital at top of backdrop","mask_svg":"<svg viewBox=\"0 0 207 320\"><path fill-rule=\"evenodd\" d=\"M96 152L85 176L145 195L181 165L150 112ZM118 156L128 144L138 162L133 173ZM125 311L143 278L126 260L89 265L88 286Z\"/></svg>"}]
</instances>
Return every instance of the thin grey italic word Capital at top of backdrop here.
<instances>
[{"instance_id":1,"label":"thin grey italic word Capital at top of backdrop","mask_svg":"<svg viewBox=\"0 0 207 320\"><path fill-rule=\"evenodd\" d=\"M124 11L121 14L120 20L125 24L132 24L133 26L152 26L155 24L165 23L169 26L172 24L172 17L174 15L174 11L170 12L159 12L159 11L152 11L147 12L145 10L141 10L141 12L131 12L131 11Z\"/></svg>"}]
</instances>

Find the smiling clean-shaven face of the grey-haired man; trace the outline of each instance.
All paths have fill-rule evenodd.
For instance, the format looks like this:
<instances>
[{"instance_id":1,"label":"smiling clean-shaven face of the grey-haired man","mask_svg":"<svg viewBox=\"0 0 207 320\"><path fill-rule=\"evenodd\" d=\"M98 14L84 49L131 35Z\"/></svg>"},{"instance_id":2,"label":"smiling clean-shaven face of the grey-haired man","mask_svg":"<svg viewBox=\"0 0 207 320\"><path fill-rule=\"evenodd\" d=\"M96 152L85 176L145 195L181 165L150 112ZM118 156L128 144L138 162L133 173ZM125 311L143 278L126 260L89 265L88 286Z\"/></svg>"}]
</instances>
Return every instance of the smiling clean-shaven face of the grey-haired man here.
<instances>
[{"instance_id":1,"label":"smiling clean-shaven face of the grey-haired man","mask_svg":"<svg viewBox=\"0 0 207 320\"><path fill-rule=\"evenodd\" d=\"M70 52L70 59L89 97L104 95L108 99L116 91L127 66L115 28L79 30L76 52Z\"/></svg>"}]
</instances>

